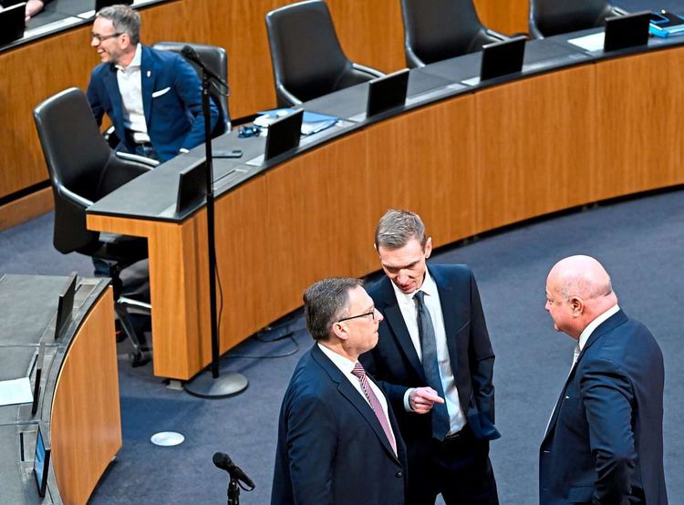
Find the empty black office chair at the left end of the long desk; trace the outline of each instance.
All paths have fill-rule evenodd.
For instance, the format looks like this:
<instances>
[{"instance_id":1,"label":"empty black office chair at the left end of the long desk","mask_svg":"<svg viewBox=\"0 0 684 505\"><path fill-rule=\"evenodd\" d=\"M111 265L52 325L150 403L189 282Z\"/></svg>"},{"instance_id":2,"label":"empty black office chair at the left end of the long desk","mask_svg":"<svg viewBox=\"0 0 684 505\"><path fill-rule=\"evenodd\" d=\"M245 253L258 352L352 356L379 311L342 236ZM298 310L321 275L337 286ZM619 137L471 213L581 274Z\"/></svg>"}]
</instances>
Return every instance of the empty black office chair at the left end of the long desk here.
<instances>
[{"instance_id":1,"label":"empty black office chair at the left end of the long desk","mask_svg":"<svg viewBox=\"0 0 684 505\"><path fill-rule=\"evenodd\" d=\"M150 349L144 335L138 335L131 324L129 309L147 310L149 314L150 306L122 296L119 277L123 268L147 258L147 240L88 231L86 209L151 168L121 159L109 148L99 133L88 98L78 88L47 98L34 109L34 119L55 197L55 248L109 263L114 308L134 349L131 361L134 366L147 363Z\"/></svg>"}]
</instances>

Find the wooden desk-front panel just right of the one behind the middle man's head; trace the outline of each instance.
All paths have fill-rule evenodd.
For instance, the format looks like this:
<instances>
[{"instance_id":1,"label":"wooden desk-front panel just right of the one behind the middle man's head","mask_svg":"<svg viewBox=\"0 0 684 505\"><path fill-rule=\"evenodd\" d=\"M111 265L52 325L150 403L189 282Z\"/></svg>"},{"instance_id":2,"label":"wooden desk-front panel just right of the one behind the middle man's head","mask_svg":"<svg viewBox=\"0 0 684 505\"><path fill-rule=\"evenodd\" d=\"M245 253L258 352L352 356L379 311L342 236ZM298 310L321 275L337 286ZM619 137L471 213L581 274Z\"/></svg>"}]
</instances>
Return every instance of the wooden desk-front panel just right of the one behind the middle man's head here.
<instances>
[{"instance_id":1,"label":"wooden desk-front panel just right of the one behind the middle man's head","mask_svg":"<svg viewBox=\"0 0 684 505\"><path fill-rule=\"evenodd\" d=\"M596 201L595 67L475 94L479 230Z\"/></svg>"}]
</instances>

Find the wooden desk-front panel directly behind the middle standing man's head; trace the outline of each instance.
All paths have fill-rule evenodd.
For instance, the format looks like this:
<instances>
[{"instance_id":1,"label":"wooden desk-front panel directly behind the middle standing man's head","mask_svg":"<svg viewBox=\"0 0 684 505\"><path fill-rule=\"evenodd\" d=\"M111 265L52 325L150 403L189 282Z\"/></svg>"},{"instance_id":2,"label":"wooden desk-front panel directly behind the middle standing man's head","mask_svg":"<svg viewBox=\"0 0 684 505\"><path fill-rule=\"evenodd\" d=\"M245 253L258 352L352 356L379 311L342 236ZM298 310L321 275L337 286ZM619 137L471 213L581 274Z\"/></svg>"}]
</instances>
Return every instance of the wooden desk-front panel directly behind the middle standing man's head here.
<instances>
[{"instance_id":1,"label":"wooden desk-front panel directly behind the middle standing man's head","mask_svg":"<svg viewBox=\"0 0 684 505\"><path fill-rule=\"evenodd\" d=\"M476 232L474 121L474 99L465 95L369 129L371 213L359 213L369 222L358 242L368 249L389 208L420 213L438 246ZM377 270L377 257L368 266L361 273Z\"/></svg>"}]
</instances>

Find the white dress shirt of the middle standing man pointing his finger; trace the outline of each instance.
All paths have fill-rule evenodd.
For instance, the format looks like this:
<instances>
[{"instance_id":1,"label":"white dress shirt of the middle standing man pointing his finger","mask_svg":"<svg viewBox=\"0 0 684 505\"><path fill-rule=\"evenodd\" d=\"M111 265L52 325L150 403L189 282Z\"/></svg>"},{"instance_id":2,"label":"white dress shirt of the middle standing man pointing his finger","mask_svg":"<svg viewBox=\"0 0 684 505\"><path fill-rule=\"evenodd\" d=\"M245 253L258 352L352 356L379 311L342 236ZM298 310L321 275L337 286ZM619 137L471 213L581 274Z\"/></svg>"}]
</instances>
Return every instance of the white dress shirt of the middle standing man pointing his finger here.
<instances>
[{"instance_id":1,"label":"white dress shirt of the middle standing man pointing his finger","mask_svg":"<svg viewBox=\"0 0 684 505\"><path fill-rule=\"evenodd\" d=\"M416 302L413 300L413 296L416 292L411 294L402 293L401 290L392 283L394 288L394 294L397 296L397 302L399 303L399 310L401 315L404 317L404 323L409 330L409 335L411 337L411 342L413 347L416 349L416 354L422 362L422 348L420 347L420 335L418 332L418 309L416 307ZM435 329L435 339L437 341L437 364L440 368L440 379L441 387L444 390L444 399L446 400L447 412L449 412L449 420L451 429L449 430L449 435L458 433L461 428L465 426L465 416L463 415L463 410L461 409L461 402L459 401L459 391L456 387L456 380L453 376L453 371L451 370L451 359L449 356L449 347L447 346L447 335L444 329L444 315L441 312L440 304L440 293L437 290L437 284L434 279L430 276L430 273L425 271L425 280L422 286L420 286L420 291L425 293L425 306L430 312L430 318L432 319L432 325ZM409 404L409 394L412 388L404 395L404 408L411 412L413 409Z\"/></svg>"}]
</instances>

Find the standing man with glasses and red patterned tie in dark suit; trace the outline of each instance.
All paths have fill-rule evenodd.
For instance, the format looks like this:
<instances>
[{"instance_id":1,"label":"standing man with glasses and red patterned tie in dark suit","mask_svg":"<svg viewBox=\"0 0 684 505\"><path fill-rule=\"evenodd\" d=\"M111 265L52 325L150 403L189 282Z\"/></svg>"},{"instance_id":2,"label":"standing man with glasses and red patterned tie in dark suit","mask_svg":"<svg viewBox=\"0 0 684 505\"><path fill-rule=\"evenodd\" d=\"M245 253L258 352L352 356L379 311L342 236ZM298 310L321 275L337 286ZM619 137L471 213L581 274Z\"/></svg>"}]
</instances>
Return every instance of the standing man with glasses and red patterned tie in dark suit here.
<instances>
[{"instance_id":1,"label":"standing man with glasses and red patterned tie in dark suit","mask_svg":"<svg viewBox=\"0 0 684 505\"><path fill-rule=\"evenodd\" d=\"M358 355L378 342L378 313L358 279L304 295L316 344L299 360L280 412L273 505L399 505L406 449L385 396Z\"/></svg>"}]
</instances>

